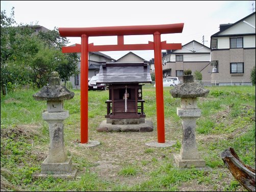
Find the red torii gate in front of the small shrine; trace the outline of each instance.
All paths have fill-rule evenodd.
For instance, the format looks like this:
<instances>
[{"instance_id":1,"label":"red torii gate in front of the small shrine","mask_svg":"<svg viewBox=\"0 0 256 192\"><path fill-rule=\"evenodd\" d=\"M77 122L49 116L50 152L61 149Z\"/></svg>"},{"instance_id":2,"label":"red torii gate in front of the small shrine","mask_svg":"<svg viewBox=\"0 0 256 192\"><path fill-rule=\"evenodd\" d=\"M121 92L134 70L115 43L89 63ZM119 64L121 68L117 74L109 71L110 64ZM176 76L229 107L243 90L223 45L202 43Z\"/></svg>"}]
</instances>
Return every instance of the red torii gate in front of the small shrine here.
<instances>
[{"instance_id":1,"label":"red torii gate in front of the small shrine","mask_svg":"<svg viewBox=\"0 0 256 192\"><path fill-rule=\"evenodd\" d=\"M59 28L62 37L81 37L81 45L62 47L63 53L81 52L81 143L88 143L88 53L89 51L154 50L158 143L165 143L162 49L181 49L181 43L161 42L161 34L182 33L184 23L162 25ZM153 35L148 44L124 44L124 35ZM88 44L89 37L117 36L117 45Z\"/></svg>"}]
</instances>

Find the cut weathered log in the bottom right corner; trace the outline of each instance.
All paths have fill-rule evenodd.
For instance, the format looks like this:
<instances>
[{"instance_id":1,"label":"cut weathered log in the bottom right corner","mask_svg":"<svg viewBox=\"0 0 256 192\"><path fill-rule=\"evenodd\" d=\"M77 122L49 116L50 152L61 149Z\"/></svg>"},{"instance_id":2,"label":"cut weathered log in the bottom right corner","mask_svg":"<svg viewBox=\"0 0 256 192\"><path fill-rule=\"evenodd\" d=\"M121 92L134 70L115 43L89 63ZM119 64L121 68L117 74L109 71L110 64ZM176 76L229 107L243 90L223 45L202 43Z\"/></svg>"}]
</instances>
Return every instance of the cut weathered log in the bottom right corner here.
<instances>
[{"instance_id":1,"label":"cut weathered log in the bottom right corner","mask_svg":"<svg viewBox=\"0 0 256 192\"><path fill-rule=\"evenodd\" d=\"M221 158L241 185L248 191L255 191L255 169L244 164L231 147L221 153Z\"/></svg>"}]
</instances>

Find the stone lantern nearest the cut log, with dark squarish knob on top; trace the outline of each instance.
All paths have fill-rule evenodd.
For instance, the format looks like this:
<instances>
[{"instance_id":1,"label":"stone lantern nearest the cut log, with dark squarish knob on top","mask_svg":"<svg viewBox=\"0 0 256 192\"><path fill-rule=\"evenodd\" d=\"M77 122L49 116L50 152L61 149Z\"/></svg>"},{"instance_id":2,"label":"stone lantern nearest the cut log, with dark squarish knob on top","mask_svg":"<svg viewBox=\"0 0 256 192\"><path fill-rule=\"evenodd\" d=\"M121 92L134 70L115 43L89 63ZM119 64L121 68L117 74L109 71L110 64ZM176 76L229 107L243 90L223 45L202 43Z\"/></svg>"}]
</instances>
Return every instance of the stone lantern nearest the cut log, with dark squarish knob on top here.
<instances>
[{"instance_id":1,"label":"stone lantern nearest the cut log, with dark squarish knob on top","mask_svg":"<svg viewBox=\"0 0 256 192\"><path fill-rule=\"evenodd\" d=\"M182 118L183 141L181 153L174 155L179 168L204 167L205 161L200 159L195 140L196 119L201 117L201 109L197 108L197 97L207 97L209 90L194 83L193 75L184 75L184 83L170 90L174 98L181 98L181 107L177 107L177 115Z\"/></svg>"}]
</instances>

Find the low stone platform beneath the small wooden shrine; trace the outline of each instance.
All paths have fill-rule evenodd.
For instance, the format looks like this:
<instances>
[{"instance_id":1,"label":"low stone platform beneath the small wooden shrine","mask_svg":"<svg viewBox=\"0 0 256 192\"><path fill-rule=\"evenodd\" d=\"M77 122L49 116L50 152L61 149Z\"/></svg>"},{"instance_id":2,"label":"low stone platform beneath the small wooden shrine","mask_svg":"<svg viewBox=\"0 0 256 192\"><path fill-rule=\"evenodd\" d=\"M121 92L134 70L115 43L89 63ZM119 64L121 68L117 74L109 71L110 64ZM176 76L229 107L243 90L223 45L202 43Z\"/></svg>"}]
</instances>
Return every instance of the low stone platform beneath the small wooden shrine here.
<instances>
[{"instance_id":1,"label":"low stone platform beneath the small wooden shrine","mask_svg":"<svg viewBox=\"0 0 256 192\"><path fill-rule=\"evenodd\" d=\"M139 124L112 124L107 123L107 120L104 120L100 123L99 127L96 129L98 132L110 132L110 131L139 131L139 132L150 132L153 130L153 123L145 119L145 122Z\"/></svg>"}]
</instances>

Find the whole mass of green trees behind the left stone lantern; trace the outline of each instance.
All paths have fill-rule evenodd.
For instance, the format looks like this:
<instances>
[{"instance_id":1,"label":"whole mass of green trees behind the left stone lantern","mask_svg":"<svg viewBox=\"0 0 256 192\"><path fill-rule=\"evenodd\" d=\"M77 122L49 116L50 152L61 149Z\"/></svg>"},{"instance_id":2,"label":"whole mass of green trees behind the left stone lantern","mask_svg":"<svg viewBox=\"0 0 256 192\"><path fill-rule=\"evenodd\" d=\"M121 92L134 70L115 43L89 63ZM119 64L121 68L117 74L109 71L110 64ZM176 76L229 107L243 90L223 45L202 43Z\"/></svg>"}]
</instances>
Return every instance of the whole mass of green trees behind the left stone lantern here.
<instances>
[{"instance_id":1,"label":"whole mass of green trees behind the left stone lantern","mask_svg":"<svg viewBox=\"0 0 256 192\"><path fill-rule=\"evenodd\" d=\"M78 73L76 54L63 54L61 47L68 40L60 37L57 28L35 35L30 25L16 24L14 8L11 16L1 11L1 88L7 85L47 84L49 73L57 70L62 80Z\"/></svg>"}]
</instances>

